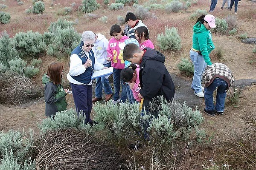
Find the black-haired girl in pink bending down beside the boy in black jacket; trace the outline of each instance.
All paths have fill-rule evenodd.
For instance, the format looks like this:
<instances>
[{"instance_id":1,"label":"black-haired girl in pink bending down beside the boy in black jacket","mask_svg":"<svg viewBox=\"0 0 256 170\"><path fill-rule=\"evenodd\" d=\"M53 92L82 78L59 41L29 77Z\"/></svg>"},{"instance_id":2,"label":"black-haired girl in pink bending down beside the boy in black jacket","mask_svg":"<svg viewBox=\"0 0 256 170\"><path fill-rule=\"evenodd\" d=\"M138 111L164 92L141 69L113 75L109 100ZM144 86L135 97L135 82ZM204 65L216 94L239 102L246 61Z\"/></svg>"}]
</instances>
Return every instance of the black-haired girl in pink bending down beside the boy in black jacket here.
<instances>
[{"instance_id":1,"label":"black-haired girl in pink bending down beside the boy in black jacket","mask_svg":"<svg viewBox=\"0 0 256 170\"><path fill-rule=\"evenodd\" d=\"M121 79L124 82L129 83L132 94L134 96L134 99L137 102L141 101L141 98L138 96L140 93L140 78L139 78L139 73L140 73L140 66L131 64L129 67L124 68L121 71Z\"/></svg>"}]
</instances>

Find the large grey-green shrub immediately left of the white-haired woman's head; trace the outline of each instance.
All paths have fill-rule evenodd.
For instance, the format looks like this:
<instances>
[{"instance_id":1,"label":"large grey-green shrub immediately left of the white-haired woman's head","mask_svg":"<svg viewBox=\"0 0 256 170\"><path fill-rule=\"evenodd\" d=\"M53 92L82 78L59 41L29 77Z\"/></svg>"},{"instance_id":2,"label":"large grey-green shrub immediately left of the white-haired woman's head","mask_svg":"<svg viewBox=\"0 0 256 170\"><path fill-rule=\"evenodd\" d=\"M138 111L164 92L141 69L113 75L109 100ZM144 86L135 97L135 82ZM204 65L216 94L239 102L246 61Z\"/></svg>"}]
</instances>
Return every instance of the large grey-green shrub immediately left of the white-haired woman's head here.
<instances>
[{"instance_id":1,"label":"large grey-green shrub immediately left of the white-haired woman's head","mask_svg":"<svg viewBox=\"0 0 256 170\"><path fill-rule=\"evenodd\" d=\"M69 57L80 40L81 35L75 28L57 28L53 38L54 43L48 45L47 54L55 57Z\"/></svg>"}]
</instances>

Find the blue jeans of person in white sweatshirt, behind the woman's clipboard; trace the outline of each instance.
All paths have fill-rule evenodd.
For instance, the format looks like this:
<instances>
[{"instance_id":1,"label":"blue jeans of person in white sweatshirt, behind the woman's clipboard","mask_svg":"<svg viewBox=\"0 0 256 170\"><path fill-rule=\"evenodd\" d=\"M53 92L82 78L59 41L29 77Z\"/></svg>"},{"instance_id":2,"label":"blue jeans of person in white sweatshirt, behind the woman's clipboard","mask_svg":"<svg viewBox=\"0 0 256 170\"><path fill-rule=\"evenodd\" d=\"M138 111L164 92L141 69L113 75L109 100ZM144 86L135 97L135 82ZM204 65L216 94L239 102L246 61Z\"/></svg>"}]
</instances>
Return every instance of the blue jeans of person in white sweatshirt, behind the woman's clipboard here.
<instances>
[{"instance_id":1,"label":"blue jeans of person in white sweatshirt, behind the woman's clipboard","mask_svg":"<svg viewBox=\"0 0 256 170\"><path fill-rule=\"evenodd\" d=\"M111 66L111 62L104 64L104 67L110 67L110 66ZM105 77L100 77L96 79L95 96L97 98L102 98L102 85L106 94L113 93L111 89L111 85L108 82L108 79L106 79Z\"/></svg>"}]
</instances>

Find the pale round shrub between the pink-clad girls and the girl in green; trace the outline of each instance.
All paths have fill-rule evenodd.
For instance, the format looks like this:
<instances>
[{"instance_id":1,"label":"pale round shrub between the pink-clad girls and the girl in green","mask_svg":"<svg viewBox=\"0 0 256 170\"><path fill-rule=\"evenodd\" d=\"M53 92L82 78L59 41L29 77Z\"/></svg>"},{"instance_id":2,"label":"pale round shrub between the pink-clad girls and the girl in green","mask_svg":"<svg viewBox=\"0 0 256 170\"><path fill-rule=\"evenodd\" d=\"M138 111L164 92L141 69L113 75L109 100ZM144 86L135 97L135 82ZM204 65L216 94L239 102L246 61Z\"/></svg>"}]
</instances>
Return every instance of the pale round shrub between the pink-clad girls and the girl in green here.
<instances>
[{"instance_id":1,"label":"pale round shrub between the pink-clad girls and the girl in green","mask_svg":"<svg viewBox=\"0 0 256 170\"><path fill-rule=\"evenodd\" d=\"M166 27L165 33L157 35L157 44L161 50L177 51L181 48L181 38L175 27Z\"/></svg>"}]
</instances>

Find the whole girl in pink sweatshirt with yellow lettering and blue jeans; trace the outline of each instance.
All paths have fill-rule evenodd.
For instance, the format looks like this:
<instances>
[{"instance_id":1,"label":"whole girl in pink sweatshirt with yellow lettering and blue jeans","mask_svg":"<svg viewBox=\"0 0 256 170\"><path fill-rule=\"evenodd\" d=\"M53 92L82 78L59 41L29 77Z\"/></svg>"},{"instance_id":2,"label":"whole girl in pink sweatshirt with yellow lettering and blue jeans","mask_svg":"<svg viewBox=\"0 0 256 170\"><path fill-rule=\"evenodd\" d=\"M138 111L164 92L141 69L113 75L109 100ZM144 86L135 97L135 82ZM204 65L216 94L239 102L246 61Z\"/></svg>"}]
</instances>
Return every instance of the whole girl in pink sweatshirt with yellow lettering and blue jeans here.
<instances>
[{"instance_id":1,"label":"whole girl in pink sweatshirt with yellow lettering and blue jeans","mask_svg":"<svg viewBox=\"0 0 256 170\"><path fill-rule=\"evenodd\" d=\"M113 25L111 27L110 33L112 38L108 43L108 57L106 60L111 61L111 66L113 69L113 84L114 84L114 95L113 102L118 103L120 101L125 102L127 98L126 88L120 79L120 73L123 68L125 68L125 61L122 59L123 49L119 48L119 44L129 39L123 32L119 25ZM120 82L122 85L121 100L119 98Z\"/></svg>"}]
</instances>

